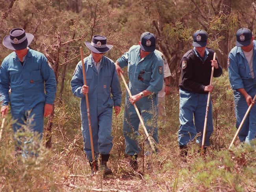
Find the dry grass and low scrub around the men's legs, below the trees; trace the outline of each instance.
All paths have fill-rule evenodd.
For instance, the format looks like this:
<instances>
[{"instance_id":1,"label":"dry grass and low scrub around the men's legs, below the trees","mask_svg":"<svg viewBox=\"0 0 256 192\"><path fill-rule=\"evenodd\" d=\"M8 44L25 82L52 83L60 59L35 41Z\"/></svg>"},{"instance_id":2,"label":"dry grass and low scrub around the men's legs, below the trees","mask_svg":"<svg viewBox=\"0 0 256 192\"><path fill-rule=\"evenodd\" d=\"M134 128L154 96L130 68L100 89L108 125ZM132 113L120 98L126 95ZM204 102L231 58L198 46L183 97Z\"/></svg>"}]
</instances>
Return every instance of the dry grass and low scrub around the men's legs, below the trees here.
<instances>
[{"instance_id":1,"label":"dry grass and low scrub around the men's legs, below the trees","mask_svg":"<svg viewBox=\"0 0 256 192\"><path fill-rule=\"evenodd\" d=\"M200 157L200 146L193 140L186 162L180 158L177 142L179 96L178 90L173 89L171 96L166 97L167 120L158 121L159 152L145 157L141 152L138 172L132 170L124 154L125 88L121 82L122 111L117 117L113 115L114 145L108 162L114 175L103 177L101 173L90 175L83 152L80 101L72 96L69 81L66 81L65 98L55 109L52 148L43 146L46 139L43 137L37 158L15 154L8 116L0 142L0 191L255 191L255 148L237 140L235 146L227 150L236 131L227 72L213 82L214 132L206 155ZM140 134L141 149L150 150L143 142L142 127Z\"/></svg>"}]
</instances>

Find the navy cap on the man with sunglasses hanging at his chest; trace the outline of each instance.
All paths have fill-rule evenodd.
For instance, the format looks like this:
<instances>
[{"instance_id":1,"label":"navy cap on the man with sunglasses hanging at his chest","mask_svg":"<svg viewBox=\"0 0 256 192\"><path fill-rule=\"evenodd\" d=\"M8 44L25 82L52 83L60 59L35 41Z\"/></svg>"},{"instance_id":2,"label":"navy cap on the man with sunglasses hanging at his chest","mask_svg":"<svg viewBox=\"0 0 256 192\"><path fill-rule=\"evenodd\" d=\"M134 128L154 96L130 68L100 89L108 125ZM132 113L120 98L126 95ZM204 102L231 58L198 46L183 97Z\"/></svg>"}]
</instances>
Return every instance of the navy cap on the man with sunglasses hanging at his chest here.
<instances>
[{"instance_id":1,"label":"navy cap on the man with sunglasses hanging at his chest","mask_svg":"<svg viewBox=\"0 0 256 192\"><path fill-rule=\"evenodd\" d=\"M141 49L146 52L153 52L156 49L156 38L153 33L144 32L141 34Z\"/></svg>"}]
</instances>

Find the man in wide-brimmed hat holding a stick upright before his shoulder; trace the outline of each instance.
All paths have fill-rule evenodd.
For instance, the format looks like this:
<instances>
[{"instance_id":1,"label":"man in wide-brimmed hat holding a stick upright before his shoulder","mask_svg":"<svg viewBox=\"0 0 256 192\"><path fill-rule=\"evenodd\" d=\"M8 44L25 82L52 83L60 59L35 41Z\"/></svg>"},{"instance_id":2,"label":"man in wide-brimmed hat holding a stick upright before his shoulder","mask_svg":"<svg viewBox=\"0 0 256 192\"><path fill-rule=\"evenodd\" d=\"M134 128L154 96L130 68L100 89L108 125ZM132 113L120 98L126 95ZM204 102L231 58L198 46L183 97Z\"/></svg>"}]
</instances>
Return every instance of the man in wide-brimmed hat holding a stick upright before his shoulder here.
<instances>
[{"instance_id":1,"label":"man in wide-brimmed hat holding a stick upright before his shoulder","mask_svg":"<svg viewBox=\"0 0 256 192\"><path fill-rule=\"evenodd\" d=\"M81 120L84 148L91 168L92 154L89 135L89 125L86 109L85 94L88 93L89 109L91 117L91 129L93 135L93 147L97 159L100 153L100 166L103 174L112 174L107 167L109 153L113 146L111 135L112 109L118 115L121 106L121 88L115 70L114 62L104 53L113 46L107 44L107 39L101 35L94 35L91 42L85 42L91 54L84 59L86 83L83 84L82 62L76 65L72 80L72 93L81 98ZM112 97L110 96L112 94Z\"/></svg>"}]
</instances>

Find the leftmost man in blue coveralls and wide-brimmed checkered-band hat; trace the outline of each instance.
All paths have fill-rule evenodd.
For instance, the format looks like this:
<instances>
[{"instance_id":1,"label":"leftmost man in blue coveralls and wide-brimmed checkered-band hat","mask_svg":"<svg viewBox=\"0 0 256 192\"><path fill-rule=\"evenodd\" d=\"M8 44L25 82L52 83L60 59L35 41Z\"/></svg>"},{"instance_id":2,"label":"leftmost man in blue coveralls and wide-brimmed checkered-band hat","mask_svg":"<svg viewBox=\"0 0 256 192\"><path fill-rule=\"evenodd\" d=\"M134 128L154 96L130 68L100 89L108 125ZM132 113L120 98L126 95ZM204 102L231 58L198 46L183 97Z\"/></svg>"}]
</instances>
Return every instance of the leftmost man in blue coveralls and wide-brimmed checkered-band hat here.
<instances>
[{"instance_id":1,"label":"leftmost man in blue coveralls and wide-brimmed checkered-band hat","mask_svg":"<svg viewBox=\"0 0 256 192\"><path fill-rule=\"evenodd\" d=\"M42 137L44 117L52 113L56 79L45 55L28 48L33 37L22 28L13 29L4 37L4 46L14 52L4 59L0 68L1 113L7 113L10 103L13 132L25 122L31 131ZM16 150L20 151L20 147L20 143L17 144Z\"/></svg>"}]
</instances>

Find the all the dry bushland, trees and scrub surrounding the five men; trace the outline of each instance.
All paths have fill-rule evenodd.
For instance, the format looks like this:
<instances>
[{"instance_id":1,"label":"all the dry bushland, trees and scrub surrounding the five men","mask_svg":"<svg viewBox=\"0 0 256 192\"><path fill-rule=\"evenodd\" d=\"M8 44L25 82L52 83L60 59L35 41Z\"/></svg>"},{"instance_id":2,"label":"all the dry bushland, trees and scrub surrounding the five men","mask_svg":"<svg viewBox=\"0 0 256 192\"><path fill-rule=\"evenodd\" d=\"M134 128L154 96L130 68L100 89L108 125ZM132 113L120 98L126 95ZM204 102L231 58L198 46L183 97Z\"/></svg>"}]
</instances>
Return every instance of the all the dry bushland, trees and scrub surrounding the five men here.
<instances>
[{"instance_id":1,"label":"all the dry bushland, trees and scrub surrounding the five men","mask_svg":"<svg viewBox=\"0 0 256 192\"><path fill-rule=\"evenodd\" d=\"M45 119L39 157L15 157L10 116L0 141L0 191L256 191L256 152L240 145L228 151L236 131L232 90L228 74L213 79L214 132L204 158L193 141L187 163L179 156L178 82L179 61L191 48L191 35L204 29L209 46L226 68L228 51L234 46L236 30L255 33L254 0L0 0L0 39L12 28L22 27L35 35L31 48L43 52L58 80L55 111ZM89 54L84 41L102 34L114 48L106 54L115 61L140 34L156 34L157 47L172 72L172 94L166 97L167 121L158 122L159 153L139 154L134 172L124 155L122 118L125 88L122 82L122 111L113 116L114 146L109 166L115 175L89 175L83 152L79 99L72 96L70 79L80 60L79 47ZM10 51L0 45L0 60ZM202 117L204 118L204 117ZM143 130L141 129L141 147Z\"/></svg>"}]
</instances>

